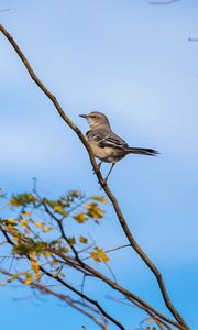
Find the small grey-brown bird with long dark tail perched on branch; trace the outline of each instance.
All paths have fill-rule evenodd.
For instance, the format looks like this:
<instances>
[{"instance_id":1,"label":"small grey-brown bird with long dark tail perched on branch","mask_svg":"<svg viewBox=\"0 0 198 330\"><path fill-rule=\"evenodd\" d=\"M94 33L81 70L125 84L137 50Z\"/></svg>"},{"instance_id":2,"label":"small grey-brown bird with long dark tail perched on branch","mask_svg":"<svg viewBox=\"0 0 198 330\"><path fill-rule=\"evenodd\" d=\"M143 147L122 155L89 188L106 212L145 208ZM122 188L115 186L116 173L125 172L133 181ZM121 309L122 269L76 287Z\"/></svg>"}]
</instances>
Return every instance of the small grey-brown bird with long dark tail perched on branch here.
<instances>
[{"instance_id":1,"label":"small grey-brown bird with long dark tail perched on branch","mask_svg":"<svg viewBox=\"0 0 198 330\"><path fill-rule=\"evenodd\" d=\"M92 150L95 157L100 160L101 164L111 163L110 170L106 177L108 180L116 163L129 154L140 154L146 156L156 156L158 151L147 147L133 147L117 135L110 125L107 116L99 111L91 111L89 114L79 114L88 121L89 130L86 133L86 139Z\"/></svg>"}]
</instances>

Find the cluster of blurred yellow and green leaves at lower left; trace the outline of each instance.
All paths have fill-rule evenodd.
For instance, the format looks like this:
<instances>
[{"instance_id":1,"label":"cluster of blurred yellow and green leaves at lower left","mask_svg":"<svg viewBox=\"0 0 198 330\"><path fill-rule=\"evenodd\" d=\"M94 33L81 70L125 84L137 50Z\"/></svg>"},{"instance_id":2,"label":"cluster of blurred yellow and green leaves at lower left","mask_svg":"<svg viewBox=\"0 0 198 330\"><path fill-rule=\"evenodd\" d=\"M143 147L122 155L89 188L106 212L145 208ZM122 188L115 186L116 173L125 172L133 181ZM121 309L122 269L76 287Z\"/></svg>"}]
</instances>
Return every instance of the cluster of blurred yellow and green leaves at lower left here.
<instances>
[{"instance_id":1,"label":"cluster of blurred yellow and green leaves at lower left","mask_svg":"<svg viewBox=\"0 0 198 330\"><path fill-rule=\"evenodd\" d=\"M3 235L12 242L10 255L22 260L19 271L8 277L10 283L22 276L25 284L41 280L40 265L45 265L53 276L65 276L58 255L73 255L73 248L77 253L81 250L95 262L108 262L106 252L88 237L82 234L66 234L68 219L79 224L94 221L97 224L105 217L101 205L107 200L102 196L86 197L78 190L72 190L58 199L41 197L37 191L13 194L8 198L0 190L1 215L12 213L12 218L1 216L0 229ZM8 241L8 240L7 240ZM80 254L80 256L82 256ZM24 258L29 261L26 265ZM62 271L62 272L61 272Z\"/></svg>"}]
</instances>

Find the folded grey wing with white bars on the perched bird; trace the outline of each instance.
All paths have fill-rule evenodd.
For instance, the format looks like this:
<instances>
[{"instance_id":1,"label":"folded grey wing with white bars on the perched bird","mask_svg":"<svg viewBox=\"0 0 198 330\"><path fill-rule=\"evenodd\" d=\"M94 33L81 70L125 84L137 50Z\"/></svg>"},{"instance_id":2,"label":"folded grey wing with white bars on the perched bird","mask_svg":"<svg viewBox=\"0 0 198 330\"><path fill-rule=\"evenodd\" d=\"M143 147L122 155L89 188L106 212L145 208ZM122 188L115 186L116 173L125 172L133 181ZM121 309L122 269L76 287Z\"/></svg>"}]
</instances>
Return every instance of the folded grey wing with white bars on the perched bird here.
<instances>
[{"instance_id":1,"label":"folded grey wing with white bars on the perched bird","mask_svg":"<svg viewBox=\"0 0 198 330\"><path fill-rule=\"evenodd\" d=\"M91 139L98 141L100 147L109 146L120 150L128 147L128 143L124 140L109 130L90 130L87 132L87 138L88 140Z\"/></svg>"}]
</instances>

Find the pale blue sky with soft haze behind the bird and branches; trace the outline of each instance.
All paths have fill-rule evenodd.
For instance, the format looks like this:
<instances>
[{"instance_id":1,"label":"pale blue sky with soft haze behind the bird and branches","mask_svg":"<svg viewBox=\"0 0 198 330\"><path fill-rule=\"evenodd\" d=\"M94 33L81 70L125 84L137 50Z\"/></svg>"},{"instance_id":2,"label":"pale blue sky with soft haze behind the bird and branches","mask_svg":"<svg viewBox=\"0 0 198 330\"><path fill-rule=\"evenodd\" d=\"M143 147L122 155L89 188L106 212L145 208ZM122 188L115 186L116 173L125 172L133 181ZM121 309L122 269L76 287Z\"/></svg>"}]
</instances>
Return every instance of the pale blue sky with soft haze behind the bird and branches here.
<instances>
[{"instance_id":1,"label":"pale blue sky with soft haze behind the bird and branches","mask_svg":"<svg viewBox=\"0 0 198 330\"><path fill-rule=\"evenodd\" d=\"M125 157L109 184L136 240L162 270L174 304L196 329L198 44L188 37L198 36L198 2L147 2L1 0L1 9L11 11L0 12L0 19L84 132L87 124L78 114L100 110L130 145L161 152L157 158ZM37 177L41 191L51 196L72 188L100 194L78 139L2 36L0 43L0 186L8 193L30 190ZM103 248L125 242L110 206L106 223L92 234ZM114 254L111 265L127 287L165 311L153 276L134 253ZM95 287L90 284L90 293ZM108 289L98 292L103 299ZM29 299L12 300L25 297L25 290L1 293L1 324L7 329L21 329L21 319L29 330L97 329L55 299L35 306ZM142 316L135 309L124 312L122 306L103 301L127 329L139 327ZM8 318L11 311L13 318Z\"/></svg>"}]
</instances>

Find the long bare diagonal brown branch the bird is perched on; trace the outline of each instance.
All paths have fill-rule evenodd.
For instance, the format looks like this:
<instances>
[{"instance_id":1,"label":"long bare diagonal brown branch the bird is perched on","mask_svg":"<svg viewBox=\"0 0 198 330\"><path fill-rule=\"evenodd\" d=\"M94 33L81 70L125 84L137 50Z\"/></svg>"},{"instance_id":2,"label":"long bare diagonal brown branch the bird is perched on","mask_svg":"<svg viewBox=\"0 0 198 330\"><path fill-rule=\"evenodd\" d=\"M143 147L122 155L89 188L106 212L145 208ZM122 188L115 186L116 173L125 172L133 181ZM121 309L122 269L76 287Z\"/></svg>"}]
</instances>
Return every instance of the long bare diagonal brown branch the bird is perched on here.
<instances>
[{"instance_id":1,"label":"long bare diagonal brown branch the bird is perched on","mask_svg":"<svg viewBox=\"0 0 198 330\"><path fill-rule=\"evenodd\" d=\"M114 195L111 193L111 190L109 189L109 187L107 185L107 182L103 179L103 177L100 173L100 169L99 169L99 167L98 167L98 165L95 161L95 156L92 154L91 147L90 147L89 143L87 142L86 138L84 136L81 131L66 116L66 113L64 112L64 110L61 107L59 102L57 101L56 97L44 86L44 84L36 76L36 74L34 73L33 68L31 67L28 58L24 56L24 54L22 53L22 51L18 46L16 42L13 40L13 37L10 35L10 33L2 26L2 24L0 24L0 31L7 37L7 40L10 42L10 44L12 45L14 51L18 53L19 57L21 58L24 66L26 67L31 78L35 81L35 84L38 86L38 88L46 95L46 97L54 103L54 106L55 106L57 112L59 113L59 116L69 125L69 128L78 135L79 140L81 141L81 143L86 147L86 150L88 152L88 155L89 155L90 163L91 163L91 165L95 169L95 173L98 177L98 180L99 180L101 187L103 188L103 190L106 191L107 196L111 200L112 206L114 208L114 211L116 211L116 213L118 216L118 219L120 221L120 224L121 224L129 242L131 243L131 246L136 251L136 253L140 255L140 257L145 262L145 264L150 267L150 270L155 275L155 277L158 282L160 289L161 289L162 296L164 298L164 301L165 301L167 308L169 309L169 311L172 312L172 315L174 316L174 318L178 321L179 324L184 326L185 329L189 329L188 326L186 324L186 322L184 321L184 319L182 318L182 316L179 315L179 312L173 306L173 304L169 299L169 296L167 294L162 274L156 268L156 266L152 263L152 261L148 258L148 256L145 254L145 252L141 249L141 246L138 244L138 242L133 238L132 233L130 232L130 229L129 229L128 223L127 223L127 221L123 217L123 213L122 213L121 208L118 204L118 200L114 197Z\"/></svg>"}]
</instances>

